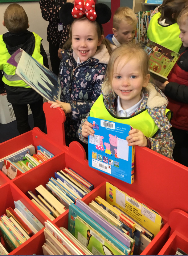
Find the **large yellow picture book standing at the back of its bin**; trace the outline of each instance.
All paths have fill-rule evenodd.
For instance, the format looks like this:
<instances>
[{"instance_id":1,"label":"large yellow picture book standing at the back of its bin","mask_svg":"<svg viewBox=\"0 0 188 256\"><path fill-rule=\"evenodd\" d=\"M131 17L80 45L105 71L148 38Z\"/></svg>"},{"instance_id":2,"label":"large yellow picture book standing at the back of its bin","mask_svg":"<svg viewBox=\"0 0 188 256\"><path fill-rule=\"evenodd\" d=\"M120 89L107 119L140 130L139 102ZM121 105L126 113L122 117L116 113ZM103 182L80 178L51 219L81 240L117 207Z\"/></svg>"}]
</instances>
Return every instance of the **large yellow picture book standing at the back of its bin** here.
<instances>
[{"instance_id":1,"label":"large yellow picture book standing at the back of its bin","mask_svg":"<svg viewBox=\"0 0 188 256\"><path fill-rule=\"evenodd\" d=\"M106 201L125 212L154 236L161 230L162 218L160 215L109 182L106 182Z\"/></svg>"}]
</instances>

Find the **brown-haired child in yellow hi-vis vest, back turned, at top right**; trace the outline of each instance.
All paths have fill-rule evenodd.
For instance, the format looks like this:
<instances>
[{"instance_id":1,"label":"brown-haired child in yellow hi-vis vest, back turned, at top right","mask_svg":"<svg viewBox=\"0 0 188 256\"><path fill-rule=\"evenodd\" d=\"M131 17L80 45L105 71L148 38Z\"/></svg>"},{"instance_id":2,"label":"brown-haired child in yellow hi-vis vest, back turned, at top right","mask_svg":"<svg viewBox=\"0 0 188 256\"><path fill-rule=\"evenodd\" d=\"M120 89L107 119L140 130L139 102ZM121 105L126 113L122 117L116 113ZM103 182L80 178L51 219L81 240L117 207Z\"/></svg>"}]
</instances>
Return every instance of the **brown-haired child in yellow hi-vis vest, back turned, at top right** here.
<instances>
[{"instance_id":1,"label":"brown-haired child in yellow hi-vis vest, back turned, at top right","mask_svg":"<svg viewBox=\"0 0 188 256\"><path fill-rule=\"evenodd\" d=\"M149 23L147 31L149 40L179 52L182 41L179 38L177 18L187 4L187 0L164 0Z\"/></svg>"}]
</instances>

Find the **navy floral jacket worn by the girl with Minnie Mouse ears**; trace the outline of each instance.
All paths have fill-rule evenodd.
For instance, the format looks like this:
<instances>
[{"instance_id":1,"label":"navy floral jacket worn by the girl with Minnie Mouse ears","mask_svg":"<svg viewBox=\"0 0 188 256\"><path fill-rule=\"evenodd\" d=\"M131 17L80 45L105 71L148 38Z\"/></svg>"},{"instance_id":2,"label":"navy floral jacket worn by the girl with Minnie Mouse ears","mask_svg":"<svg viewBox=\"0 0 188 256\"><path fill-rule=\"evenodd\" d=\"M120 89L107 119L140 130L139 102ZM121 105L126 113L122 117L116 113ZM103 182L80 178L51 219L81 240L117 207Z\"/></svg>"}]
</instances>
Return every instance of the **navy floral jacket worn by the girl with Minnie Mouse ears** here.
<instances>
[{"instance_id":1,"label":"navy floral jacket worn by the girl with Minnie Mouse ears","mask_svg":"<svg viewBox=\"0 0 188 256\"><path fill-rule=\"evenodd\" d=\"M69 140L78 139L81 120L89 113L101 94L101 85L110 55L105 45L96 54L77 65L78 56L73 50L63 50L59 68L62 102L71 104L72 112L66 115L65 134Z\"/></svg>"}]
</instances>

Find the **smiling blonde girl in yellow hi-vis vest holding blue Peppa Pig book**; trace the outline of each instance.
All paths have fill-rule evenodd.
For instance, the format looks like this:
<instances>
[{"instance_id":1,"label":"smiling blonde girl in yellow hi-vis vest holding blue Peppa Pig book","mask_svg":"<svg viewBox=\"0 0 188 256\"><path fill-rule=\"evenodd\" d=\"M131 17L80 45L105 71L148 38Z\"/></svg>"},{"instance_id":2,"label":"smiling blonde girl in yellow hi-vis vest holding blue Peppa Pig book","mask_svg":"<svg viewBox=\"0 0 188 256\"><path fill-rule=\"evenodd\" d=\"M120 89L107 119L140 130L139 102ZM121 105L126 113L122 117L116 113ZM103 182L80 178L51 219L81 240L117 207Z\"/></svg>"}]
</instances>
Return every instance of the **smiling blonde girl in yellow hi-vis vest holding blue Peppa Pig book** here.
<instances>
[{"instance_id":1,"label":"smiling blonde girl in yellow hi-vis vest holding blue Peppa Pig book","mask_svg":"<svg viewBox=\"0 0 188 256\"><path fill-rule=\"evenodd\" d=\"M127 44L113 51L102 94L79 127L80 140L88 143L95 132L88 116L129 124L129 146L148 147L172 158L174 140L166 109L166 96L149 83L149 57L140 45Z\"/></svg>"}]
</instances>

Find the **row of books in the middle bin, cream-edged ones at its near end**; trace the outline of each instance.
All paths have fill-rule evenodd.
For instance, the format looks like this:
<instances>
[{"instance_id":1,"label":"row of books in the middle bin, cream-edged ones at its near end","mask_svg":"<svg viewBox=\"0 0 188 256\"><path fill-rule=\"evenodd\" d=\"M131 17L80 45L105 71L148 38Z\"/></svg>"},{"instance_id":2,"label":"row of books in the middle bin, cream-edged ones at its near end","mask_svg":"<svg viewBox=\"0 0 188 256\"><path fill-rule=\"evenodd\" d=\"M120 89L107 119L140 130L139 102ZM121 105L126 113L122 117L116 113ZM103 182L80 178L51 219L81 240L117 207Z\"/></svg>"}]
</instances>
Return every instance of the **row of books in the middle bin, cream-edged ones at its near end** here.
<instances>
[{"instance_id":1,"label":"row of books in the middle bin, cream-edged ones at its near end","mask_svg":"<svg viewBox=\"0 0 188 256\"><path fill-rule=\"evenodd\" d=\"M82 199L93 189L93 184L85 180L78 173L65 167L63 171L55 172L55 179L51 177L46 184L39 185L35 192L27 192L31 201L51 220L59 217L69 208L69 204L76 199Z\"/></svg>"}]
</instances>

